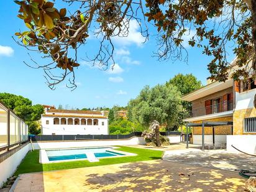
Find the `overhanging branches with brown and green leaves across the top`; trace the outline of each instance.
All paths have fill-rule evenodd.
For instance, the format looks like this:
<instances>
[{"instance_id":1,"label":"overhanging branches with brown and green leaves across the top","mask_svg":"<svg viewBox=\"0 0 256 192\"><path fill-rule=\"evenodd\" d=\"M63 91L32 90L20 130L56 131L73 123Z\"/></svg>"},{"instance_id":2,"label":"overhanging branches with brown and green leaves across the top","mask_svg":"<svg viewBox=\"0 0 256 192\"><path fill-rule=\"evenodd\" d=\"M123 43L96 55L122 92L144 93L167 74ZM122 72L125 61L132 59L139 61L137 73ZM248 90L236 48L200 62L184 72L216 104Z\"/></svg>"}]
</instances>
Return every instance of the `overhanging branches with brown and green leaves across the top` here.
<instances>
[{"instance_id":1,"label":"overhanging branches with brown and green leaves across the top","mask_svg":"<svg viewBox=\"0 0 256 192\"><path fill-rule=\"evenodd\" d=\"M208 69L213 80L227 80L231 67L234 80L255 75L256 0L63 0L75 11L57 9L47 0L15 2L20 6L18 17L28 27L16 35L21 45L52 60L47 64L32 60L36 68L43 68L52 89L67 76L75 88L78 48L88 42L90 33L100 39L91 60L96 65L113 66L112 38L126 37L132 20L140 25L145 40L149 37L147 25L155 25L160 60L186 60L183 41L190 34L191 47L202 48L212 58ZM235 66L227 61L227 47L232 47L237 57Z\"/></svg>"}]
</instances>

